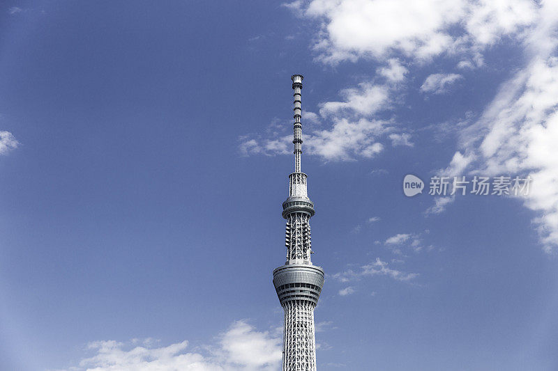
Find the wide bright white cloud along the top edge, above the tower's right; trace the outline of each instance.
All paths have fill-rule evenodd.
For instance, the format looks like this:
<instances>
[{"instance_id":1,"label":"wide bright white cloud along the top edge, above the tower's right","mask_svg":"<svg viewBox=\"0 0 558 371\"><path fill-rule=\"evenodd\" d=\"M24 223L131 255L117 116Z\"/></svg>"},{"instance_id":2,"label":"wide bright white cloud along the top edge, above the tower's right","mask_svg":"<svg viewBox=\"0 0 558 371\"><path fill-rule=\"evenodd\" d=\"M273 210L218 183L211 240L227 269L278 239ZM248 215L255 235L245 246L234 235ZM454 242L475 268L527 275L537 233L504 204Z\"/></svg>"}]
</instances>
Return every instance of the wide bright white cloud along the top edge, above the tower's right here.
<instances>
[{"instance_id":1,"label":"wide bright white cloud along the top edge, above the tower's right","mask_svg":"<svg viewBox=\"0 0 558 371\"><path fill-rule=\"evenodd\" d=\"M503 36L522 38L536 22L529 0L312 0L292 3L297 15L321 24L319 61L339 63L392 54L427 60L479 52Z\"/></svg>"}]
</instances>

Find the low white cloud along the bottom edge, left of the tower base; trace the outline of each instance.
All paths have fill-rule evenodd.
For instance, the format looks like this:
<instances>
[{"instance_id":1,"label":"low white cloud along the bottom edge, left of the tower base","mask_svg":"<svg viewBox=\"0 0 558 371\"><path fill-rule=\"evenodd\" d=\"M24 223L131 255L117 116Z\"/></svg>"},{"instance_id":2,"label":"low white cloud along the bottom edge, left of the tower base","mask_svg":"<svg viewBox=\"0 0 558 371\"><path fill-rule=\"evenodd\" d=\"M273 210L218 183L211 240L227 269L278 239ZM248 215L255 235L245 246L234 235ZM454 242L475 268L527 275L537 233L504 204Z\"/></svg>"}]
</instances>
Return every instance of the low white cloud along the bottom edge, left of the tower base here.
<instances>
[{"instance_id":1,"label":"low white cloud along the bottom edge, left of the tower base","mask_svg":"<svg viewBox=\"0 0 558 371\"><path fill-rule=\"evenodd\" d=\"M278 370L282 357L281 339L256 331L244 321L234 322L218 337L218 347L209 354L187 352L188 341L166 347L153 342L135 346L114 340L91 342L95 354L82 359L72 371L159 371L159 370Z\"/></svg>"}]
</instances>

